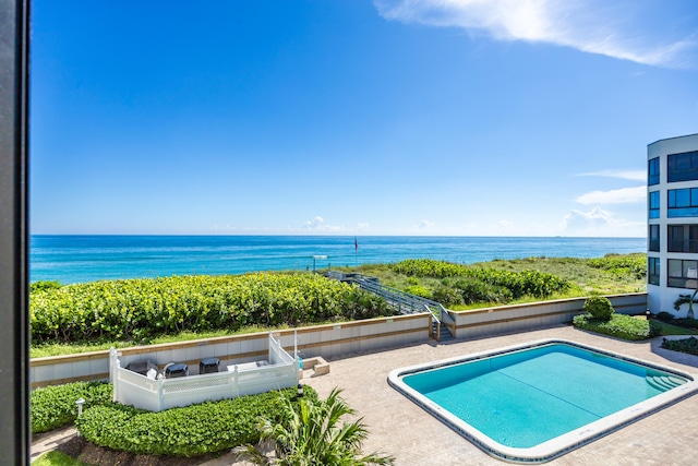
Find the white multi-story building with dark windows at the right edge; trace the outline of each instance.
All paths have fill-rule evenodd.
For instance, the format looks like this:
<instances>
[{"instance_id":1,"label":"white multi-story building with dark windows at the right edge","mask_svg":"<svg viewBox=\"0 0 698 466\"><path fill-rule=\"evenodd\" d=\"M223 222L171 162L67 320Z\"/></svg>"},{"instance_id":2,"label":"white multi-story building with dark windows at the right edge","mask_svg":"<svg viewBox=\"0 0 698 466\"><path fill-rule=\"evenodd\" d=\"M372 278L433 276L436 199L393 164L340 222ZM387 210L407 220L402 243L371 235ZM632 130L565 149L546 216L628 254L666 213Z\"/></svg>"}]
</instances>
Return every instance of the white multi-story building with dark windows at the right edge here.
<instances>
[{"instance_id":1,"label":"white multi-story building with dark windows at the right edge","mask_svg":"<svg viewBox=\"0 0 698 466\"><path fill-rule=\"evenodd\" d=\"M647 158L647 306L686 316L674 302L698 287L698 134L653 142Z\"/></svg>"}]
</instances>

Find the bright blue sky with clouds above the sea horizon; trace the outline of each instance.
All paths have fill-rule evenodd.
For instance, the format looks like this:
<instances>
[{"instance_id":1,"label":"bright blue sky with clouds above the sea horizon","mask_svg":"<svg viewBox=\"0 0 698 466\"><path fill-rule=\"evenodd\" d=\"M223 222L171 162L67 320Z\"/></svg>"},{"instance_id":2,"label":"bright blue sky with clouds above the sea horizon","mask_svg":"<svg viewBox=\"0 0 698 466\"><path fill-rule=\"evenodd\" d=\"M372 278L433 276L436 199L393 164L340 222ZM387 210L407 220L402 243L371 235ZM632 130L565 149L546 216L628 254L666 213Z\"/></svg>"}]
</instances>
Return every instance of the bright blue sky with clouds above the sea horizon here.
<instances>
[{"instance_id":1,"label":"bright blue sky with clouds above the sea horizon","mask_svg":"<svg viewBox=\"0 0 698 466\"><path fill-rule=\"evenodd\" d=\"M694 0L33 1L34 234L646 235Z\"/></svg>"}]
</instances>

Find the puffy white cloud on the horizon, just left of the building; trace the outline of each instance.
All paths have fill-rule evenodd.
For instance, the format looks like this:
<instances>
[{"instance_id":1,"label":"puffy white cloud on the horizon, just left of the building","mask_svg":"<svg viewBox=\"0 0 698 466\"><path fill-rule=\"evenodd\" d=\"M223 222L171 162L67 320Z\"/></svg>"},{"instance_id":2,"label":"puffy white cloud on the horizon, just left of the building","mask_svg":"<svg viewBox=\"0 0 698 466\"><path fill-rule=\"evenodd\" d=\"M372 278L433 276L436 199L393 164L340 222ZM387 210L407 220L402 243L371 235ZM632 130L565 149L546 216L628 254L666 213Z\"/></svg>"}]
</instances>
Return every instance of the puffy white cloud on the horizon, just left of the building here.
<instances>
[{"instance_id":1,"label":"puffy white cloud on the horizon, just left of the building","mask_svg":"<svg viewBox=\"0 0 698 466\"><path fill-rule=\"evenodd\" d=\"M589 212L574 210L565 215L559 232L569 236L589 237L641 237L647 224L617 218L609 211L597 206Z\"/></svg>"}]
</instances>

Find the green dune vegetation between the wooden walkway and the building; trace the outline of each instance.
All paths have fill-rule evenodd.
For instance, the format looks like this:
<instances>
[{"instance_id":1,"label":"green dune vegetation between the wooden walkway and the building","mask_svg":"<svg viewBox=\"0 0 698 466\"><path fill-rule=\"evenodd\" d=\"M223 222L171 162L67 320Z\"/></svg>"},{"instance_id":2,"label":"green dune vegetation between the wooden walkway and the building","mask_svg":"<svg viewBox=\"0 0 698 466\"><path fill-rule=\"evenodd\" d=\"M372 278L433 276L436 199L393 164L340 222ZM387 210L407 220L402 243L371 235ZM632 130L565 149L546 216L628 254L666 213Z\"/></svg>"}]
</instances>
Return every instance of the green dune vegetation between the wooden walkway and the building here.
<instances>
[{"instance_id":1,"label":"green dune vegetation between the wooden walkway and the building","mask_svg":"<svg viewBox=\"0 0 698 466\"><path fill-rule=\"evenodd\" d=\"M464 272L466 270L471 272ZM495 275L493 278L482 271L502 271L504 274ZM578 298L593 294L642 292L647 288L645 253L612 253L597 259L541 256L474 264L417 260L396 264L364 264L358 272L378 277L382 284L402 290L407 290L410 285L419 284L432 292L431 299L456 311L505 303ZM544 277L547 275L557 279L551 279L547 286L544 286ZM459 286L455 286L455 280L465 278L477 280L479 285L471 283L465 286L466 283L461 282ZM532 283L522 286L526 279L534 282L537 278L541 278L538 285ZM507 285L514 286L509 288ZM493 289L492 286L498 288ZM525 289L524 294L521 289Z\"/></svg>"}]
</instances>

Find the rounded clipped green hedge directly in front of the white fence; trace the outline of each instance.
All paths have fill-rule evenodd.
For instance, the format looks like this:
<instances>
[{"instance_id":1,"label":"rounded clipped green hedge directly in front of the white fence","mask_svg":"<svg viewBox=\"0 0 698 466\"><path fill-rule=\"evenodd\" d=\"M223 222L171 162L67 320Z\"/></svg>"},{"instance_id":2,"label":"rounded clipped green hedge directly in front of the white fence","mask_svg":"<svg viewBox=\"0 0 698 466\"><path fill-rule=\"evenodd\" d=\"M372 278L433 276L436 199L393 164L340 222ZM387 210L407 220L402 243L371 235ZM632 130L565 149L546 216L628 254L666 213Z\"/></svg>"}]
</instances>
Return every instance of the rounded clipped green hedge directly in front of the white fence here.
<instances>
[{"instance_id":1,"label":"rounded clipped green hedge directly in front of the white fence","mask_svg":"<svg viewBox=\"0 0 698 466\"><path fill-rule=\"evenodd\" d=\"M296 389L284 390L288 398ZM304 396L317 399L312 387ZM296 402L294 402L296 403ZM282 421L279 392L151 413L119 404L86 410L75 426L89 442L133 454L198 456L260 440L262 418Z\"/></svg>"}]
</instances>

